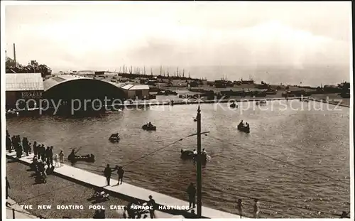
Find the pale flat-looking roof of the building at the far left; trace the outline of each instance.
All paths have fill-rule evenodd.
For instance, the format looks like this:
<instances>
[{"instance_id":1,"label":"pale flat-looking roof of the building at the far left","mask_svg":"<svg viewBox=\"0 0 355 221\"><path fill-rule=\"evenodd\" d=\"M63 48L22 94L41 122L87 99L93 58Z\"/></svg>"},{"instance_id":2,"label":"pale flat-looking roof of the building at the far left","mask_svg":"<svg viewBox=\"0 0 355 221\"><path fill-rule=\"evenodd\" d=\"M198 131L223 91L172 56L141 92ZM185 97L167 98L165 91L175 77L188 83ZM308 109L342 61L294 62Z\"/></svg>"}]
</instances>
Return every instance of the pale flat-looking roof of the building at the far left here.
<instances>
[{"instance_id":1,"label":"pale flat-looking roof of the building at the far left","mask_svg":"<svg viewBox=\"0 0 355 221\"><path fill-rule=\"evenodd\" d=\"M6 74L6 91L44 90L41 73Z\"/></svg>"}]
</instances>

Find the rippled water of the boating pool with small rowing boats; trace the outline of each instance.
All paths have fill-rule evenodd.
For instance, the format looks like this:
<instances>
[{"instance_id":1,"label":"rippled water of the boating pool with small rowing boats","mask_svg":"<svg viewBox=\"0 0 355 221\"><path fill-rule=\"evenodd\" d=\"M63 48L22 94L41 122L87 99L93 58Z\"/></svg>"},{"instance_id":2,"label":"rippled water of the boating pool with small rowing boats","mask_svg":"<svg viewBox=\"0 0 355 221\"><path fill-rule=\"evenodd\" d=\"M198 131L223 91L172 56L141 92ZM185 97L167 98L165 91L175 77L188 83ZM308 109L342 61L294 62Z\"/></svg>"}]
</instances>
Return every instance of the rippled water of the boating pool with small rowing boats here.
<instances>
[{"instance_id":1,"label":"rippled water of the boating pool with small rowing boats","mask_svg":"<svg viewBox=\"0 0 355 221\"><path fill-rule=\"evenodd\" d=\"M251 215L251 198L259 198L261 217L332 217L332 212L349 211L349 108L316 111L314 107L324 104L303 104L312 110L280 111L278 107L285 106L274 102L273 110L249 109L241 114L240 108L237 112L226 109L227 104L222 104L225 109L201 105L202 131L211 131L211 136L222 139L202 136L202 146L212 156L202 172L204 205L236 213L236 200L243 198L246 213ZM293 103L294 108L301 105ZM102 173L106 163L125 165L194 134L192 117L196 110L197 105L151 107L81 119L14 118L6 124L10 134L53 145L57 152L63 149L69 153L71 148L82 146L80 153L93 153L97 161L78 163L77 167ZM249 122L251 134L236 130L241 119ZM157 131L141 129L149 121ZM119 144L111 144L109 135L116 131L122 139ZM180 159L180 149L194 149L196 143L196 136L192 136L129 164L126 182L186 200L187 185L195 182L195 166Z\"/></svg>"}]
</instances>

